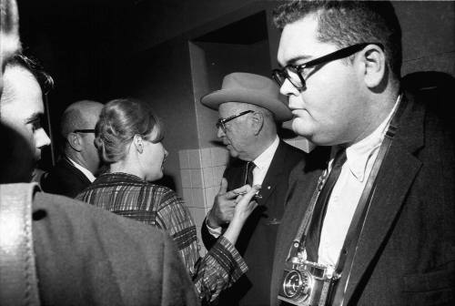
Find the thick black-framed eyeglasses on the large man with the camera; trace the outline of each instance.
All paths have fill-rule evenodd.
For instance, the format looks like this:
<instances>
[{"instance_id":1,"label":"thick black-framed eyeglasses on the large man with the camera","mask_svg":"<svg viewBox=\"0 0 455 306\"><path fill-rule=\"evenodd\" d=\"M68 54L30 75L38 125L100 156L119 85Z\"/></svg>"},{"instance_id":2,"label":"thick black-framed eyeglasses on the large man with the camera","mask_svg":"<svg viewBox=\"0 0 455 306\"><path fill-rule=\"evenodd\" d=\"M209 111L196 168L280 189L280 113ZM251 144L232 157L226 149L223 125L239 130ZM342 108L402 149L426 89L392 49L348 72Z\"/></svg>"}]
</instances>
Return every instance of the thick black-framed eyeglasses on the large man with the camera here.
<instances>
[{"instance_id":1,"label":"thick black-framed eyeglasses on the large man with the camera","mask_svg":"<svg viewBox=\"0 0 455 306\"><path fill-rule=\"evenodd\" d=\"M326 56L320 56L318 58L312 59L308 61L307 63L294 66L294 65L288 65L285 66L282 69L274 69L272 71L272 76L273 79L278 83L278 86L281 87L283 83L286 81L286 79L289 80L289 82L296 87L298 90L301 90L305 88L306 82L305 78L303 77L303 71L306 68L313 67L313 66L318 66L321 64L327 64L331 61L340 59L340 58L345 58L348 56L352 56L356 52L359 52L361 49L363 49L366 46L369 45L377 45L380 48L383 49L382 44L379 43L361 43L361 44L356 44L352 46L347 46L345 48L339 49L335 52L329 53Z\"/></svg>"}]
</instances>

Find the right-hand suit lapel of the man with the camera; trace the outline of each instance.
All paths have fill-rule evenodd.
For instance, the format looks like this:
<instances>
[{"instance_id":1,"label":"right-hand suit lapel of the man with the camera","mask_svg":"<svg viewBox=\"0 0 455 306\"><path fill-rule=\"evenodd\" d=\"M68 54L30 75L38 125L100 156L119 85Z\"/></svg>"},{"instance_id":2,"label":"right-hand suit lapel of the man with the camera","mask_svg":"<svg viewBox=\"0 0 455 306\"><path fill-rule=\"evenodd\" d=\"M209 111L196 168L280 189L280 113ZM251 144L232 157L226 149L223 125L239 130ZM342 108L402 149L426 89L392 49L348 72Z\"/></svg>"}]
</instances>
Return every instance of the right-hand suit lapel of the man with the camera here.
<instances>
[{"instance_id":1,"label":"right-hand suit lapel of the man with the camera","mask_svg":"<svg viewBox=\"0 0 455 306\"><path fill-rule=\"evenodd\" d=\"M398 218L408 190L420 170L421 162L413 153L423 146L424 111L421 106L417 108L413 103L408 103L397 135L379 170L376 190L359 237L345 304L349 304L349 299L380 245L387 240L389 230Z\"/></svg>"}]
</instances>

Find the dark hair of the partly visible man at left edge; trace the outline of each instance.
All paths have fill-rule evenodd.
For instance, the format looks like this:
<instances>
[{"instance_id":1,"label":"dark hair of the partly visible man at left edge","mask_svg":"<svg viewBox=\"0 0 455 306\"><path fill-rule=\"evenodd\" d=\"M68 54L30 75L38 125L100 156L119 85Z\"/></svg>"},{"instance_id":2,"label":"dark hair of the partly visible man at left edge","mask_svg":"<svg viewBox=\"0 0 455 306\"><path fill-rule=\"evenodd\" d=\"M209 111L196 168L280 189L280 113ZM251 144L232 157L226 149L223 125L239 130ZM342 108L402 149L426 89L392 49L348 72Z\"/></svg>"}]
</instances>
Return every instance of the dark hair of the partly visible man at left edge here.
<instances>
[{"instance_id":1,"label":"dark hair of the partly visible man at left edge","mask_svg":"<svg viewBox=\"0 0 455 306\"><path fill-rule=\"evenodd\" d=\"M21 66L35 76L36 81L41 87L43 95L47 94L54 88L54 79L49 76L43 66L33 57L16 54L6 60L5 67Z\"/></svg>"}]
</instances>

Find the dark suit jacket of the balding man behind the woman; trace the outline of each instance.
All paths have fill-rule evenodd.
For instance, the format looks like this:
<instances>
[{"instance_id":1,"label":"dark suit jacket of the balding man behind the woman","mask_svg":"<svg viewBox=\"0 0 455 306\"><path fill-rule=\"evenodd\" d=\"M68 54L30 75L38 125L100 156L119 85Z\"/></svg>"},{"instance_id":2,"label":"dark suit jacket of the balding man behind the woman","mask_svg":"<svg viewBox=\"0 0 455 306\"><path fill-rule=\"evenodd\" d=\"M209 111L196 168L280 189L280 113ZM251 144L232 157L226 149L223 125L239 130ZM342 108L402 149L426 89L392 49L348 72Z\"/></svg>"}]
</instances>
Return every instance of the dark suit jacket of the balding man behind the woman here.
<instances>
[{"instance_id":1,"label":"dark suit jacket of the balding man behind the woman","mask_svg":"<svg viewBox=\"0 0 455 306\"><path fill-rule=\"evenodd\" d=\"M60 158L56 166L41 179L41 188L45 192L76 198L91 182L84 173L77 169L67 158Z\"/></svg>"}]
</instances>

